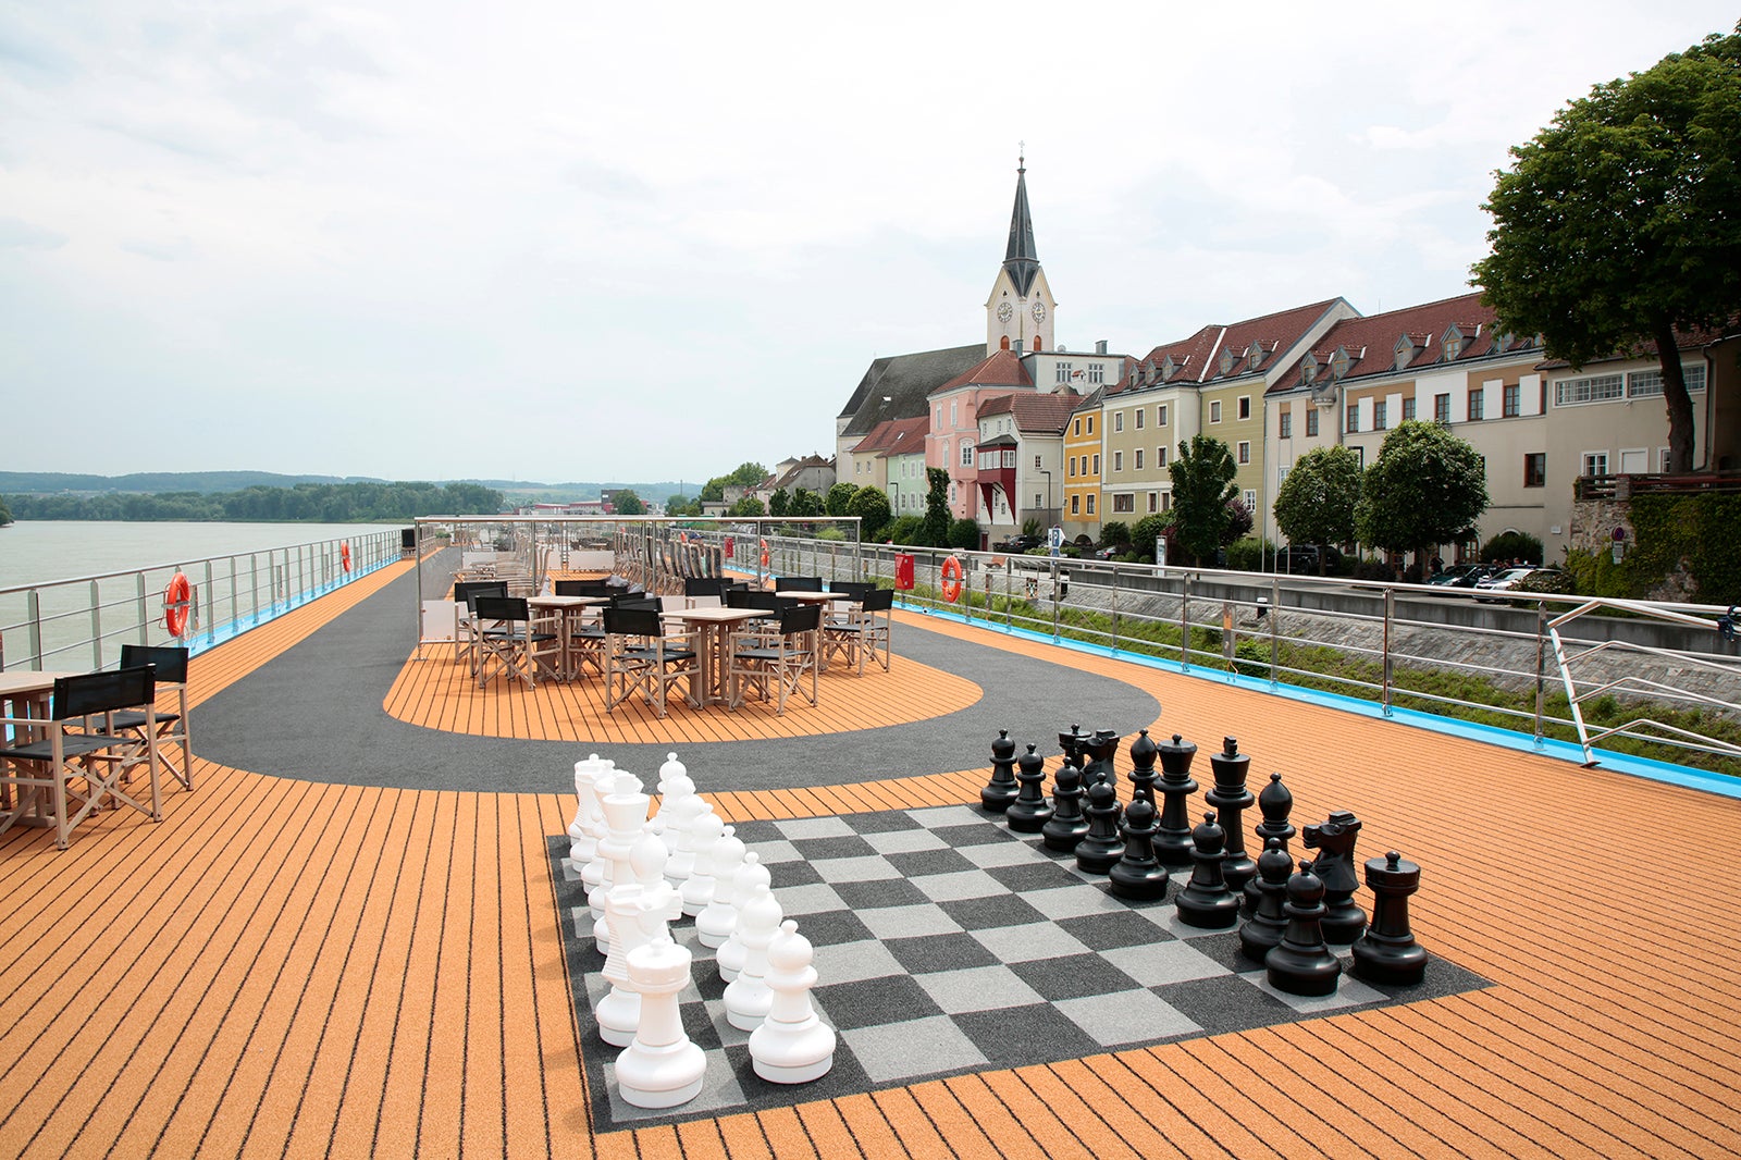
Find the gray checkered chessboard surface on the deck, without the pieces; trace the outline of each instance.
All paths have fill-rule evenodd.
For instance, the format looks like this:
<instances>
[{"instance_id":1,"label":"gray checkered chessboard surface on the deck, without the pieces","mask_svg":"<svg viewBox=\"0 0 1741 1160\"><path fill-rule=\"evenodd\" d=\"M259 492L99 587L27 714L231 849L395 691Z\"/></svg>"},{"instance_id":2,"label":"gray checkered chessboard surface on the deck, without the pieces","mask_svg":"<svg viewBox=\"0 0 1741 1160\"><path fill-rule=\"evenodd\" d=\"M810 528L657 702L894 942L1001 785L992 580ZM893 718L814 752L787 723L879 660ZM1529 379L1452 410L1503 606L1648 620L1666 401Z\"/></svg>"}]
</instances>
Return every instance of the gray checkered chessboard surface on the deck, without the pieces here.
<instances>
[{"instance_id":1,"label":"gray checkered chessboard surface on the deck, without the pieces","mask_svg":"<svg viewBox=\"0 0 1741 1160\"><path fill-rule=\"evenodd\" d=\"M1354 979L1351 956L1334 995L1301 998L1269 986L1240 953L1238 930L1179 921L1173 871L1160 902L1128 902L1104 876L1076 869L1039 834L1017 834L978 806L743 822L736 834L773 878L785 916L815 946L811 1000L836 1028L834 1068L811 1083L756 1075L749 1033L726 1022L714 951L695 920L672 937L695 954L681 1012L707 1054L702 1094L670 1109L620 1099L622 1049L597 1033L594 1003L609 989L594 948L580 869L568 838L550 838L557 907L575 995L595 1132L679 1123L898 1087L984 1068L1078 1059L1224 1031L1440 998L1483 988L1433 954L1419 986ZM1368 913L1372 899L1356 899ZM1433 948L1428 948L1429 951Z\"/></svg>"}]
</instances>

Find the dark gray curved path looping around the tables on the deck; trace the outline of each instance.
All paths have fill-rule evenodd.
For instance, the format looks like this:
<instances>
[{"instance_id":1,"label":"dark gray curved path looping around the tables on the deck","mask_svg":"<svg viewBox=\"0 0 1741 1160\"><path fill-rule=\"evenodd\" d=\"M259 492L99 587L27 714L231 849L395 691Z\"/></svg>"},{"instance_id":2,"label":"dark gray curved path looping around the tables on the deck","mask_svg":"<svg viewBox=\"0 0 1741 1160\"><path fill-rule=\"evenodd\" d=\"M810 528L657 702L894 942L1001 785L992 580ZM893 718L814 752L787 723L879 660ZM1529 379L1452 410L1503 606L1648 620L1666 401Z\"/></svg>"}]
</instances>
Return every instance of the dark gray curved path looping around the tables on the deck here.
<instances>
[{"instance_id":1,"label":"dark gray curved path looping around the tables on the deck","mask_svg":"<svg viewBox=\"0 0 1741 1160\"><path fill-rule=\"evenodd\" d=\"M984 697L940 718L823 737L679 745L470 737L406 725L381 709L416 648L414 606L416 575L407 573L204 702L193 719L197 752L239 770L313 782L571 792L573 765L588 752L651 784L676 749L703 791L783 789L975 766L989 772L999 728L1052 756L1059 730L1072 723L1125 735L1161 712L1153 697L1121 681L902 624L893 674L865 679L898 683L898 658L909 658L977 683Z\"/></svg>"}]
</instances>

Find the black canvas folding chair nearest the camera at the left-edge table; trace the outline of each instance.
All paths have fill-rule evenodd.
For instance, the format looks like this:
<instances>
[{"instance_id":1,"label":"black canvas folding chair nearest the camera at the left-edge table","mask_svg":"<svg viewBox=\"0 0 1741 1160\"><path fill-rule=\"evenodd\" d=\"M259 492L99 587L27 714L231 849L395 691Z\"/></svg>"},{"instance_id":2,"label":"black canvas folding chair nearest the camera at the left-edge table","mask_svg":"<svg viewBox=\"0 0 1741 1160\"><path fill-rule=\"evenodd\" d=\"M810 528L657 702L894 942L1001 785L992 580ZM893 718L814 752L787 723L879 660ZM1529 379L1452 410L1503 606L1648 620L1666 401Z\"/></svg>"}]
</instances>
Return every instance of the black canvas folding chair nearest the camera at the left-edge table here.
<instances>
[{"instance_id":1,"label":"black canvas folding chair nearest the camera at the left-edge table","mask_svg":"<svg viewBox=\"0 0 1741 1160\"><path fill-rule=\"evenodd\" d=\"M106 732L104 719L120 711L145 714L143 737ZM54 679L49 718L0 718L14 744L0 749L0 784L21 791L0 834L19 819L54 815L54 846L64 850L73 826L106 799L132 806L153 822L164 820L157 784L157 685L150 665L115 672L87 672ZM42 737L35 737L42 733ZM31 737L17 744L16 738ZM122 777L150 768L150 803L129 792ZM47 798L47 801L44 801Z\"/></svg>"}]
</instances>

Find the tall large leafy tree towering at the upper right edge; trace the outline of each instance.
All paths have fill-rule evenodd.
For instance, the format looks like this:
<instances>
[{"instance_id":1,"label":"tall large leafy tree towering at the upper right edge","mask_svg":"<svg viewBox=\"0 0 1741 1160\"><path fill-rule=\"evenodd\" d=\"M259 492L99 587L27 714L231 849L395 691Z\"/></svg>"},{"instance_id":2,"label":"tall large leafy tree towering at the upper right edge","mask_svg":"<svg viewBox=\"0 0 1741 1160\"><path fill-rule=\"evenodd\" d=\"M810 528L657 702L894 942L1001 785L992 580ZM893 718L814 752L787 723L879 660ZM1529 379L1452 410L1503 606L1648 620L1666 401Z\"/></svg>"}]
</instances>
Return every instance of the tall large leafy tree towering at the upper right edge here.
<instances>
[{"instance_id":1,"label":"tall large leafy tree towering at the upper right edge","mask_svg":"<svg viewBox=\"0 0 1741 1160\"><path fill-rule=\"evenodd\" d=\"M1741 24L1596 85L1511 157L1483 206L1483 300L1572 366L1654 343L1670 470L1692 470L1675 329L1741 312Z\"/></svg>"}]
</instances>

